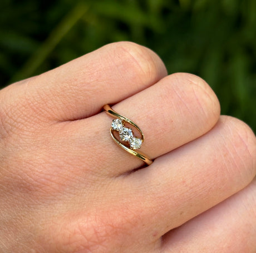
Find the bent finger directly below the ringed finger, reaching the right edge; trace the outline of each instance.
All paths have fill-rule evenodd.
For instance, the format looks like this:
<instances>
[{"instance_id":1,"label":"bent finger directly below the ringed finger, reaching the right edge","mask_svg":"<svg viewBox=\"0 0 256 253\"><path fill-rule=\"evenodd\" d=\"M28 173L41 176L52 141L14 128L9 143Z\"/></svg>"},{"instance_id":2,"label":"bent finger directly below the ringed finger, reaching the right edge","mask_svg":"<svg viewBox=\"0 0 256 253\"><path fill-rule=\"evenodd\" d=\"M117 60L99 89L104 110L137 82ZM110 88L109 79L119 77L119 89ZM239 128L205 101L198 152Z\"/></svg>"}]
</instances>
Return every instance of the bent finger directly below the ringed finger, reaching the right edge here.
<instances>
[{"instance_id":1,"label":"bent finger directly below the ringed finger, reaching the right edge","mask_svg":"<svg viewBox=\"0 0 256 253\"><path fill-rule=\"evenodd\" d=\"M256 174L255 158L252 130L221 117L204 136L129 175L131 203L151 221L150 234L164 235L248 185Z\"/></svg>"}]
</instances>

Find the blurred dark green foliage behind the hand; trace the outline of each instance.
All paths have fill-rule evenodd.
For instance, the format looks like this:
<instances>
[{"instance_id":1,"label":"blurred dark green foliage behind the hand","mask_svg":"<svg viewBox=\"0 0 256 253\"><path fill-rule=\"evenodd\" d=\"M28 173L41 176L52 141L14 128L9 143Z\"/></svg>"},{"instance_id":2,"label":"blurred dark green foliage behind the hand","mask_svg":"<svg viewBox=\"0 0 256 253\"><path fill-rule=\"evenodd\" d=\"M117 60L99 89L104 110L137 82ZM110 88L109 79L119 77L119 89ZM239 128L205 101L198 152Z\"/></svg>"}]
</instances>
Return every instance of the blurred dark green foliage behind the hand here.
<instances>
[{"instance_id":1,"label":"blurred dark green foliage behind the hand","mask_svg":"<svg viewBox=\"0 0 256 253\"><path fill-rule=\"evenodd\" d=\"M208 82L221 113L256 130L255 0L1 0L0 87L115 41Z\"/></svg>"}]
</instances>

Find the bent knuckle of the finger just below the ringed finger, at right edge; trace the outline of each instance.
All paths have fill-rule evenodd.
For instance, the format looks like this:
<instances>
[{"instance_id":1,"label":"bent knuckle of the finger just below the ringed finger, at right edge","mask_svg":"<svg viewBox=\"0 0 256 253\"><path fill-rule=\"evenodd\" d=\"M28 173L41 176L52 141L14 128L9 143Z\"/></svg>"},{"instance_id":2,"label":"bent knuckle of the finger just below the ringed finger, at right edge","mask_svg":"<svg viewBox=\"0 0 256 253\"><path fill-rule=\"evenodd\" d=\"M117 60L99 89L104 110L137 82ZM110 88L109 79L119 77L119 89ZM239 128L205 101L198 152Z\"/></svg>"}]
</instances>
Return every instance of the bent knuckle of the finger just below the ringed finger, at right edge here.
<instances>
[{"instance_id":1,"label":"bent knuckle of the finger just below the ringed finger, at right edge","mask_svg":"<svg viewBox=\"0 0 256 253\"><path fill-rule=\"evenodd\" d=\"M250 127L237 118L223 116L223 122L230 133L233 160L239 161L244 169L245 184L249 184L256 175L256 138Z\"/></svg>"}]
</instances>

